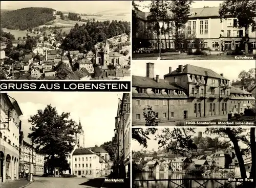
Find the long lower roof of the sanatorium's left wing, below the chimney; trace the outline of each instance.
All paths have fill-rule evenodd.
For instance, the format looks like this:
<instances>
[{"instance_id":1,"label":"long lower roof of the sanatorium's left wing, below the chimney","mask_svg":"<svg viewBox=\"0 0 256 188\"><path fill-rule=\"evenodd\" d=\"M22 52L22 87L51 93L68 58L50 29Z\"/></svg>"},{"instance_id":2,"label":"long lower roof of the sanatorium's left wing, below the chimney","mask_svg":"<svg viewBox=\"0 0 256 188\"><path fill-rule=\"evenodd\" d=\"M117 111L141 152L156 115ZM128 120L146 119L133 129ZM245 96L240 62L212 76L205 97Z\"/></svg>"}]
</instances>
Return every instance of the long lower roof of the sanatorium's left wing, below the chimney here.
<instances>
[{"instance_id":1,"label":"long lower roof of the sanatorium's left wing, below the chimney","mask_svg":"<svg viewBox=\"0 0 256 188\"><path fill-rule=\"evenodd\" d=\"M174 86L172 83L169 83L165 79L159 79L159 83L149 77L143 76L132 76L132 85L133 87L140 87L140 88L158 88L158 89L170 89L170 90L183 90Z\"/></svg>"}]
</instances>

